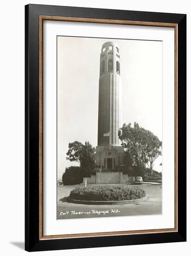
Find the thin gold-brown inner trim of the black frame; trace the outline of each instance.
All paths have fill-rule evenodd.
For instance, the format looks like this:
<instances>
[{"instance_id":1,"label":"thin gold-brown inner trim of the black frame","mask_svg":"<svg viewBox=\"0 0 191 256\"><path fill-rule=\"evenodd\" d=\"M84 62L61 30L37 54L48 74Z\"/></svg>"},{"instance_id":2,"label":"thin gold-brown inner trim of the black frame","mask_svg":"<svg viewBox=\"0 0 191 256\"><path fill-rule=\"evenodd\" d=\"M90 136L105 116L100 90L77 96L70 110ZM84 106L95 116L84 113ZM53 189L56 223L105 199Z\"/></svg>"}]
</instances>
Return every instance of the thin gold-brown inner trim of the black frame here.
<instances>
[{"instance_id":1,"label":"thin gold-brown inner trim of the black frame","mask_svg":"<svg viewBox=\"0 0 191 256\"><path fill-rule=\"evenodd\" d=\"M146 229L131 231L98 232L83 234L66 235L43 235L43 21L73 21L88 23L121 24L135 26L153 26L153 27L174 27L174 228L172 229ZM42 239L60 239L77 238L93 236L120 236L148 233L166 233L178 232L178 24L132 21L132 20L107 20L90 19L63 16L39 16L39 240Z\"/></svg>"}]
</instances>

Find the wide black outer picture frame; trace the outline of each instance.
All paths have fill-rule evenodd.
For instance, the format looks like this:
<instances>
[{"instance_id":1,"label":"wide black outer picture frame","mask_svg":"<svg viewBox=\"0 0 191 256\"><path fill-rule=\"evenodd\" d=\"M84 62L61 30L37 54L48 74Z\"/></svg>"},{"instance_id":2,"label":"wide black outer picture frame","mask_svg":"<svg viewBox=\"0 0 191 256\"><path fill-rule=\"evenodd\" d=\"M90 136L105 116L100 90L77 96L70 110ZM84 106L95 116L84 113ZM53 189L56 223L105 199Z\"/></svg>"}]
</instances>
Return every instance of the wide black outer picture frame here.
<instances>
[{"instance_id":1,"label":"wide black outer picture frame","mask_svg":"<svg viewBox=\"0 0 191 256\"><path fill-rule=\"evenodd\" d=\"M178 230L151 234L43 239L39 236L39 16L176 23L178 27ZM94 248L186 241L186 14L25 6L25 250Z\"/></svg>"}]
</instances>

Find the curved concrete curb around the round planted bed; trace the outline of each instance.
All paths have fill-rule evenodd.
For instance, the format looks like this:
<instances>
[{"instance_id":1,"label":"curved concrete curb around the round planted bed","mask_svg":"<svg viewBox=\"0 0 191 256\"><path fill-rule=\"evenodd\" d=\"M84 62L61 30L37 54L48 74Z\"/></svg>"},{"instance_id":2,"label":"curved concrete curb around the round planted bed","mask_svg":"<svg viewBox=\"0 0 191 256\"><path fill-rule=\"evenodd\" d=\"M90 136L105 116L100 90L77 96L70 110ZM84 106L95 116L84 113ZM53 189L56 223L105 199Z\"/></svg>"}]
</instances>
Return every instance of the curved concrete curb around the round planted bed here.
<instances>
[{"instance_id":1,"label":"curved concrete curb around the round planted bed","mask_svg":"<svg viewBox=\"0 0 191 256\"><path fill-rule=\"evenodd\" d=\"M138 202L145 201L147 199L147 195L145 197L134 199L134 200L123 200L123 201L85 201L85 200L76 200L70 198L68 196L67 200L73 203L80 203L80 204L136 204Z\"/></svg>"}]
</instances>

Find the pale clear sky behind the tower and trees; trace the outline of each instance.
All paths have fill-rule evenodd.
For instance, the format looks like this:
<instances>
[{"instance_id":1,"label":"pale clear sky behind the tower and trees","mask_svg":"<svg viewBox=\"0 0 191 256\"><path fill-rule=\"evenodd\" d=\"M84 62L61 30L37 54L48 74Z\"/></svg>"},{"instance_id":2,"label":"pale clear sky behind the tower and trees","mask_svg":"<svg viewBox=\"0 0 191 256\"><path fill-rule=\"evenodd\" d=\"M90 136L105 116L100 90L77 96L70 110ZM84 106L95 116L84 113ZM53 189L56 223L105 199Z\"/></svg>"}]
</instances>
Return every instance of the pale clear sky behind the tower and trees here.
<instances>
[{"instance_id":1,"label":"pale clear sky behind the tower and trees","mask_svg":"<svg viewBox=\"0 0 191 256\"><path fill-rule=\"evenodd\" d=\"M122 122L150 130L162 141L162 41L57 37L57 176L66 167L69 142L97 146L100 53L107 41L120 47ZM154 169L162 171L162 156Z\"/></svg>"}]
</instances>

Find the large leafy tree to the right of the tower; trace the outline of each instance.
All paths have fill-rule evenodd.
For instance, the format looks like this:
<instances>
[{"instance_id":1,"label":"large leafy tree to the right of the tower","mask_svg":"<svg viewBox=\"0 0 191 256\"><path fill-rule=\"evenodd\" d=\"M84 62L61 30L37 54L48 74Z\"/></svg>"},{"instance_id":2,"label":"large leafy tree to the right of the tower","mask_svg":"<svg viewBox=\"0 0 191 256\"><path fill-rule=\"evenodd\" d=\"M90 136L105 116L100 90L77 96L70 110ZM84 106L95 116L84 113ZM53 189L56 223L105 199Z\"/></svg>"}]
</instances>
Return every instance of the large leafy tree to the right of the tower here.
<instances>
[{"instance_id":1,"label":"large leafy tree to the right of the tower","mask_svg":"<svg viewBox=\"0 0 191 256\"><path fill-rule=\"evenodd\" d=\"M146 168L149 166L153 172L153 162L161 155L162 142L152 132L141 128L138 123L125 123L118 132L121 145L126 149L133 166Z\"/></svg>"}]
</instances>

